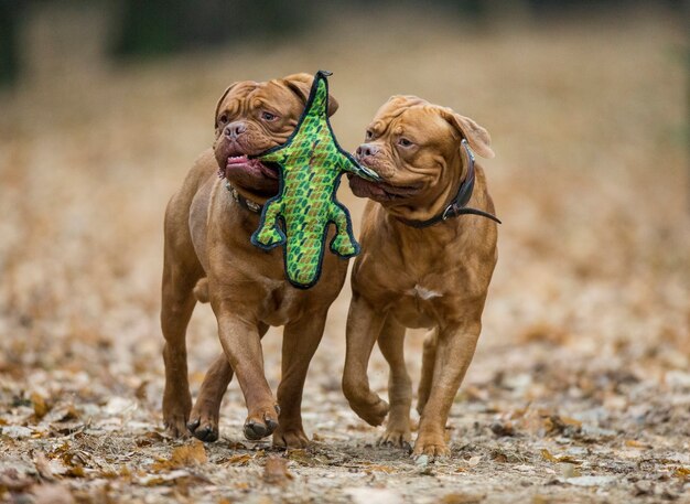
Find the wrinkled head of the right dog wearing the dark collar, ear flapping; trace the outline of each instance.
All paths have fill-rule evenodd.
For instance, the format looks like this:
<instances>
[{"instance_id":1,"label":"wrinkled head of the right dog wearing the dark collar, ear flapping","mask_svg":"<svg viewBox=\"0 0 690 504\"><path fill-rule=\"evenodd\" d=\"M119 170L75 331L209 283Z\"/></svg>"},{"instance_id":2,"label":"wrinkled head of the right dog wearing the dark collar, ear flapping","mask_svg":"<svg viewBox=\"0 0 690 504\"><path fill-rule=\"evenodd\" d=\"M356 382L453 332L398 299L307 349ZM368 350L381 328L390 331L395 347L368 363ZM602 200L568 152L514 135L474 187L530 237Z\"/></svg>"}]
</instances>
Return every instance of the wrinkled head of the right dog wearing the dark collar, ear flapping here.
<instances>
[{"instance_id":1,"label":"wrinkled head of the right dog wearing the dark collar, ear flapping","mask_svg":"<svg viewBox=\"0 0 690 504\"><path fill-rule=\"evenodd\" d=\"M351 189L387 207L428 201L461 176L463 138L479 156L494 157L488 132L472 119L416 96L393 96L367 127L355 156L384 182L349 176Z\"/></svg>"}]
</instances>

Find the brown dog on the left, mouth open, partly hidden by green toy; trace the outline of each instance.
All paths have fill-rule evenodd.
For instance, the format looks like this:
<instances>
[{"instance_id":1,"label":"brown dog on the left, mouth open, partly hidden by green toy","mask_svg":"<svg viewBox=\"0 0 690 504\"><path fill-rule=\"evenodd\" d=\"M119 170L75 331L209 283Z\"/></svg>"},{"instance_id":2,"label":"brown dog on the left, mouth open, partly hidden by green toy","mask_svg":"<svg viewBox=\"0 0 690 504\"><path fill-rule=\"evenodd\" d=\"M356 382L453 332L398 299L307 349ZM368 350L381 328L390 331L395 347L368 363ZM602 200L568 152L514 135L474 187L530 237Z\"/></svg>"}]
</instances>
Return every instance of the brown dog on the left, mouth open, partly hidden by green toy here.
<instances>
[{"instance_id":1,"label":"brown dog on the left, mouth open, partly hidden by green toy","mask_svg":"<svg viewBox=\"0 0 690 504\"><path fill-rule=\"evenodd\" d=\"M278 446L308 442L301 416L304 378L328 307L343 287L347 261L325 254L319 283L299 290L285 280L281 249L263 251L251 245L258 210L277 194L279 182L276 167L248 156L288 140L311 84L312 76L297 74L228 87L216 108L213 149L200 157L168 205L163 419L173 436L188 429L202 440L217 439L220 400L235 373L247 403L248 439L273 433ZM328 114L336 108L331 98ZM218 168L227 187L217 176ZM197 300L211 301L225 355L212 365L192 409L185 334ZM263 374L261 337L269 325L285 326L278 400Z\"/></svg>"}]
</instances>

